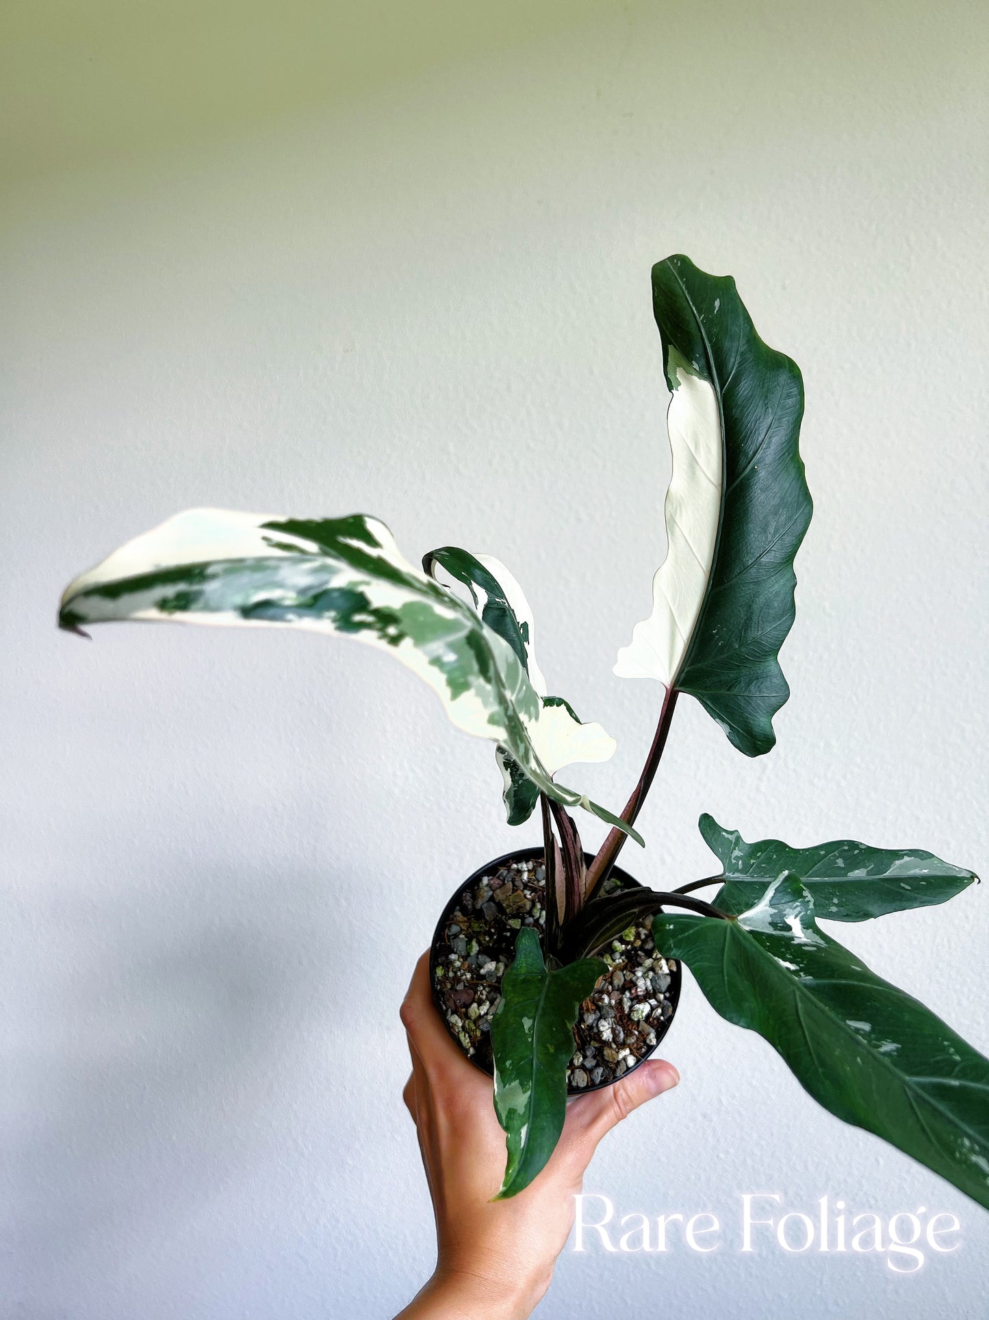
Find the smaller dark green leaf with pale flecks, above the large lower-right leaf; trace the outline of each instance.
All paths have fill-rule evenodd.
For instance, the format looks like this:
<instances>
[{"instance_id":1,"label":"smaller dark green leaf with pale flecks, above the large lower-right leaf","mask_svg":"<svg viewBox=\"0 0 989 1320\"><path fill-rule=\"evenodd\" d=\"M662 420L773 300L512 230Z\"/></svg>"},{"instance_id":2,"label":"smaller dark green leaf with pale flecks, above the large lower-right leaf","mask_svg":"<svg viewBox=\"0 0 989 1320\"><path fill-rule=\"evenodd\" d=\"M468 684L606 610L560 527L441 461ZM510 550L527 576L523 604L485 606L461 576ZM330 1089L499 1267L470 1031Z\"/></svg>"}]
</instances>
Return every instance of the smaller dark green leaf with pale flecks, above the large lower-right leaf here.
<instances>
[{"instance_id":1,"label":"smaller dark green leaf with pale flecks, above the large lower-right leaf","mask_svg":"<svg viewBox=\"0 0 989 1320\"><path fill-rule=\"evenodd\" d=\"M723 912L754 907L781 871L800 876L815 912L828 921L866 921L886 912L931 907L977 879L973 871L919 847L869 847L849 838L816 847L790 847L778 838L746 843L737 830L723 829L707 814L699 826L724 867L725 883L713 899Z\"/></svg>"}]
</instances>

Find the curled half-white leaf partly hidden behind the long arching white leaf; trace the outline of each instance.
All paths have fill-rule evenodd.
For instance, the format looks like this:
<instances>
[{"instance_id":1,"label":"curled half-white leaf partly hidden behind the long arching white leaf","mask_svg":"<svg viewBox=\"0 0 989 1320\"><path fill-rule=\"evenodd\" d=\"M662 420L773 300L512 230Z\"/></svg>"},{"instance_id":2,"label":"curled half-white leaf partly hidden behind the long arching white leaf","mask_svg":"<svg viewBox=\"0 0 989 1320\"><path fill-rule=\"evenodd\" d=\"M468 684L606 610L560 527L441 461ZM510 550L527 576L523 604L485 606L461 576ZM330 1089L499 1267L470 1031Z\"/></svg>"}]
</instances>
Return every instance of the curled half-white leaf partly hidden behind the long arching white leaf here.
<instances>
[{"instance_id":1,"label":"curled half-white leaf partly hidden behind the long arching white leaf","mask_svg":"<svg viewBox=\"0 0 989 1320\"><path fill-rule=\"evenodd\" d=\"M430 550L423 570L434 579L442 568L467 589L471 603L489 628L508 642L525 667L529 681L542 698L537 750L550 775L574 762L601 762L614 754L614 739L599 723L582 723L570 702L546 696L546 680L535 663L535 623L529 602L505 565L489 554L471 554L455 545ZM505 747L496 748L504 783L509 825L527 821L538 800L535 783Z\"/></svg>"}]
</instances>

